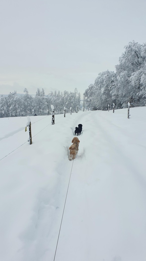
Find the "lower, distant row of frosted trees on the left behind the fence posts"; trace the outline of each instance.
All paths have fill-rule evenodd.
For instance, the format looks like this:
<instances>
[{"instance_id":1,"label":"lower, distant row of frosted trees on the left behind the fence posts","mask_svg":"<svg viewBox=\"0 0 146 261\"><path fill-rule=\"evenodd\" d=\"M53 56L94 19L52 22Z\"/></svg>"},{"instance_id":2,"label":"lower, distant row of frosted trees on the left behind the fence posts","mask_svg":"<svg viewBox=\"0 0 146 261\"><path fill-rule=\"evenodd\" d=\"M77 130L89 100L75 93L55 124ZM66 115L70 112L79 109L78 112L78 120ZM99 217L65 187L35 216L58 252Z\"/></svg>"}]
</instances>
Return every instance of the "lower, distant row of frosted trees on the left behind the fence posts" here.
<instances>
[{"instance_id":1,"label":"lower, distant row of frosted trees on the left behind the fence posts","mask_svg":"<svg viewBox=\"0 0 146 261\"><path fill-rule=\"evenodd\" d=\"M66 107L66 112L72 110L78 105L80 109L81 96L78 93L77 88L74 92L64 91L63 93L55 91L51 92L47 96L44 89L37 89L35 97L32 97L28 93L28 90L24 89L24 95L18 96L17 92L10 92L8 96L0 97L0 117L13 117L13 116L26 116L30 115L45 115L51 114L51 104L54 105L55 113L61 114Z\"/></svg>"}]
</instances>

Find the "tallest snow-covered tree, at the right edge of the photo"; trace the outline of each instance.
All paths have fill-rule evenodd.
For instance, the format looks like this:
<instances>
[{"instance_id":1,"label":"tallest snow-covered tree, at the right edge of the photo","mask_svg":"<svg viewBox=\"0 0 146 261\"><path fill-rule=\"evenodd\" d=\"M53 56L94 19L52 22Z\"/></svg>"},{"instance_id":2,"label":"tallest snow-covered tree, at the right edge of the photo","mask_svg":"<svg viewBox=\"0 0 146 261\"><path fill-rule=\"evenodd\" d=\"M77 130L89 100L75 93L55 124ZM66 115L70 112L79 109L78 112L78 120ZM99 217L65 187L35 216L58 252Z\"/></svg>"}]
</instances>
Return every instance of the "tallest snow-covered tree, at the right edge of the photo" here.
<instances>
[{"instance_id":1,"label":"tallest snow-covered tree, at the right edge of the photo","mask_svg":"<svg viewBox=\"0 0 146 261\"><path fill-rule=\"evenodd\" d=\"M123 107L127 107L128 101L137 106L140 102L138 95L140 90L140 73L136 72L141 70L145 64L145 44L141 45L132 41L124 48L125 51L119 58L119 64L115 66L117 73L116 93L118 93ZM137 78L136 81L134 81L134 77Z\"/></svg>"}]
</instances>

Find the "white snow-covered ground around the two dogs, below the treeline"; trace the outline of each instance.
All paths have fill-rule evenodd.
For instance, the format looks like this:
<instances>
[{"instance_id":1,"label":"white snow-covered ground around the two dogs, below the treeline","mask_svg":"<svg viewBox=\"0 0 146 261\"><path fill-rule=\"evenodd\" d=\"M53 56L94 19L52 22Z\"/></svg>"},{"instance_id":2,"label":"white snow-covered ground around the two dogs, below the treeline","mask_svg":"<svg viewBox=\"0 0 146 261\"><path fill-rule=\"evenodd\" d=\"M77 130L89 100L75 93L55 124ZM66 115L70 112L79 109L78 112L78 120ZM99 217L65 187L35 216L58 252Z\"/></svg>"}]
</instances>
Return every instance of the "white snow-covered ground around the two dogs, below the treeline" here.
<instances>
[{"instance_id":1,"label":"white snow-covered ground around the two dogs, below the treeline","mask_svg":"<svg viewBox=\"0 0 146 261\"><path fill-rule=\"evenodd\" d=\"M1 261L146 260L146 107L127 113L30 117L32 145L26 117L0 119Z\"/></svg>"}]
</instances>

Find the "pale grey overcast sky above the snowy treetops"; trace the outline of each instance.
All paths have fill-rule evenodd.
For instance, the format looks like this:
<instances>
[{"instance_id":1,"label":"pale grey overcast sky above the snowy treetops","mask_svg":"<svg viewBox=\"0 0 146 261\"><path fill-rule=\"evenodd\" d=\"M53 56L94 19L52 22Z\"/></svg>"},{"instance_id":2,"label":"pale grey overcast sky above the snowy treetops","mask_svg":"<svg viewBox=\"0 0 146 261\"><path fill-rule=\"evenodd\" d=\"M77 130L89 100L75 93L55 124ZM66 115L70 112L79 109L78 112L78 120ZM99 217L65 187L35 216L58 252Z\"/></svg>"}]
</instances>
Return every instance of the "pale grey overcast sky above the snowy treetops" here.
<instances>
[{"instance_id":1,"label":"pale grey overcast sky above the snowy treetops","mask_svg":"<svg viewBox=\"0 0 146 261\"><path fill-rule=\"evenodd\" d=\"M146 42L145 0L0 0L0 94L81 93Z\"/></svg>"}]
</instances>

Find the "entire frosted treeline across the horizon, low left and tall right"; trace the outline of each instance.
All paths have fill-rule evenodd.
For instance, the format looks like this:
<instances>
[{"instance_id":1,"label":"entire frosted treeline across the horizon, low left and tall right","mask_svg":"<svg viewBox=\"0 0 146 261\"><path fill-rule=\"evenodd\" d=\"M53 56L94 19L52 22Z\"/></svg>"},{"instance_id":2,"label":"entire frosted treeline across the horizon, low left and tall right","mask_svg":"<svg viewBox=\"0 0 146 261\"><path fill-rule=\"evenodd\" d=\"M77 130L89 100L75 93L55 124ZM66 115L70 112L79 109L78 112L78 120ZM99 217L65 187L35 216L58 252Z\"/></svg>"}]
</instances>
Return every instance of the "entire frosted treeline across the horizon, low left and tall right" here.
<instances>
[{"instance_id":1,"label":"entire frosted treeline across the horizon, low left and tall right","mask_svg":"<svg viewBox=\"0 0 146 261\"><path fill-rule=\"evenodd\" d=\"M106 110L108 104L117 108L127 108L128 102L133 107L146 105L146 43L138 44L129 42L125 51L119 58L119 64L115 66L116 72L109 70L101 72L90 84L83 95L83 107L94 110ZM54 105L55 113L63 113L64 106L69 111L81 108L81 95L77 88L74 92L56 91L45 95L44 89L39 88L36 96L32 97L28 90L24 89L24 95L18 96L14 91L8 96L0 97L0 117L45 115L51 114L51 104Z\"/></svg>"}]
</instances>

